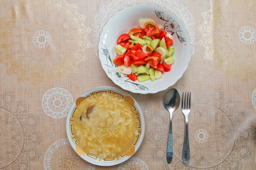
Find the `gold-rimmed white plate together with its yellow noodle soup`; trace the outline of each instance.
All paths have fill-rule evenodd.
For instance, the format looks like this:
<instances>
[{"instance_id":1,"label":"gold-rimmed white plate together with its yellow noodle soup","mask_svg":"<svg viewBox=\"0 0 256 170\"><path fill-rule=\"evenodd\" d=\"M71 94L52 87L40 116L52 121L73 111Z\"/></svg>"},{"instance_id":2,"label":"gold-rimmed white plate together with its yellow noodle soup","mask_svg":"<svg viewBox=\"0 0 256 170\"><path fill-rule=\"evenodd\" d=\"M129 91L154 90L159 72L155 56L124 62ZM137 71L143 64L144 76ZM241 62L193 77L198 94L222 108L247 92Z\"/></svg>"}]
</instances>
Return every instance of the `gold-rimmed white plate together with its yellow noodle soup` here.
<instances>
[{"instance_id":1,"label":"gold-rimmed white plate together with its yellow noodle soup","mask_svg":"<svg viewBox=\"0 0 256 170\"><path fill-rule=\"evenodd\" d=\"M112 166L126 161L139 149L145 131L144 115L126 92L98 87L73 103L66 129L70 145L82 159Z\"/></svg>"}]
</instances>

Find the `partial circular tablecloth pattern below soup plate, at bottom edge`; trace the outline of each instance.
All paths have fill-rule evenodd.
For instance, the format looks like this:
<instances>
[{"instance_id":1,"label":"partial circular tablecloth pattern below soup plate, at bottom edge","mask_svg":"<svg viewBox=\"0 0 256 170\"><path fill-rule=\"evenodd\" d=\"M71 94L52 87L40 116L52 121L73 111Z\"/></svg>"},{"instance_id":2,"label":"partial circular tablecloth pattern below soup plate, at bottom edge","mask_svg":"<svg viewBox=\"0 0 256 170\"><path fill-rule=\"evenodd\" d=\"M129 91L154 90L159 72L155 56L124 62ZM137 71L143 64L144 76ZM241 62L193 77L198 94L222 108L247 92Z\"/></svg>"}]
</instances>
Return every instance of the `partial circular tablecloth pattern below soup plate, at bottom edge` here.
<instances>
[{"instance_id":1,"label":"partial circular tablecloth pattern below soup plate, at bottom edge","mask_svg":"<svg viewBox=\"0 0 256 170\"><path fill-rule=\"evenodd\" d=\"M128 170L128 169L134 169L134 170L149 170L149 167L146 165L146 163L137 157L132 157L128 159L126 162L123 162L122 164L119 164L118 170Z\"/></svg>"}]
</instances>

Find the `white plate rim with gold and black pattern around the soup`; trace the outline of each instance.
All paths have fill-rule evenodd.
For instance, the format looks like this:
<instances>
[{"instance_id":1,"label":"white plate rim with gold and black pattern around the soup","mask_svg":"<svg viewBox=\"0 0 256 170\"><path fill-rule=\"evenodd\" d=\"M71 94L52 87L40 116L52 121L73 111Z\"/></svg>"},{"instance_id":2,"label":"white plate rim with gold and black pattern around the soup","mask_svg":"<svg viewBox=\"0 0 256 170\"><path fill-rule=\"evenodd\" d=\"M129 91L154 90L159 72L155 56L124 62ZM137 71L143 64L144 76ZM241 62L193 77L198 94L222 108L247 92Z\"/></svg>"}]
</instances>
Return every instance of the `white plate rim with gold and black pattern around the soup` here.
<instances>
[{"instance_id":1,"label":"white plate rim with gold and black pattern around the soup","mask_svg":"<svg viewBox=\"0 0 256 170\"><path fill-rule=\"evenodd\" d=\"M87 97L90 96L97 96L97 94L102 94L102 93L108 93L112 94L113 96L118 96L120 98L124 98L124 100L128 101L129 103L132 104L133 108L133 113L134 117L137 119L138 127L138 135L137 135L137 141L134 142L134 144L129 147L129 150L125 152L124 154L117 155L117 157L114 157L112 159L101 159L100 157L94 157L90 154L87 154L80 149L78 146L78 142L76 139L75 134L73 133L73 115L75 114L76 109L78 108L77 105L78 103ZM127 94L124 91L121 91L119 89L116 89L114 87L99 87L96 89L91 89L90 91L85 92L85 94L82 94L80 98L76 100L75 103L73 103L73 106L71 106L70 111L68 113L68 118L67 118L67 123L66 123L66 129L67 129L67 134L68 134L68 140L70 142L70 145L73 147L75 152L85 161L90 162L91 164L99 165L99 166L112 166L116 164L120 164L137 152L139 149L140 145L142 144L142 140L144 138L144 133L145 133L145 120L144 120L144 115L142 113L142 109L139 107L139 104L137 101L135 101L132 96Z\"/></svg>"}]
</instances>

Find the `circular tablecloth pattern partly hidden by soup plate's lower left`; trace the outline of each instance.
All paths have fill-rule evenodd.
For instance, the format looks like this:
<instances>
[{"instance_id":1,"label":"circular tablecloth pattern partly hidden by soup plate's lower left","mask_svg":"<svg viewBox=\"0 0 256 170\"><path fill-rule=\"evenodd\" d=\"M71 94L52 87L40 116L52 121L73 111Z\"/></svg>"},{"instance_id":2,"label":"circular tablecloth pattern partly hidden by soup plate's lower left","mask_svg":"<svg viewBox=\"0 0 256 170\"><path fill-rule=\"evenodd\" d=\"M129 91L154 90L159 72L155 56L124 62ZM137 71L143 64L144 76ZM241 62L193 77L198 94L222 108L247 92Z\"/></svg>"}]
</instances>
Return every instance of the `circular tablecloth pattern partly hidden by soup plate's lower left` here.
<instances>
[{"instance_id":1,"label":"circular tablecloth pattern partly hidden by soup plate's lower left","mask_svg":"<svg viewBox=\"0 0 256 170\"><path fill-rule=\"evenodd\" d=\"M57 140L48 147L43 158L43 166L45 170L95 169L95 165L82 161L80 157L75 154L72 147L70 147L70 142L68 142L66 138Z\"/></svg>"}]
</instances>

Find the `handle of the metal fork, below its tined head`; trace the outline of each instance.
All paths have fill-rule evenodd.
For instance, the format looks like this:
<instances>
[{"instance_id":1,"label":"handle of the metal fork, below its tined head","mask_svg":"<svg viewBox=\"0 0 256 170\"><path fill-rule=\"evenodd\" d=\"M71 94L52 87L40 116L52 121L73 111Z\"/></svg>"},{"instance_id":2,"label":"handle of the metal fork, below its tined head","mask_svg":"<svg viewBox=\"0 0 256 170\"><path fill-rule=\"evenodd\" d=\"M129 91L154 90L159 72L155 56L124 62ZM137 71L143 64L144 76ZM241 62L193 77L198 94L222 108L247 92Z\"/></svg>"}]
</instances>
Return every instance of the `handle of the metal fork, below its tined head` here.
<instances>
[{"instance_id":1,"label":"handle of the metal fork, below its tined head","mask_svg":"<svg viewBox=\"0 0 256 170\"><path fill-rule=\"evenodd\" d=\"M191 156L190 156L189 141L188 141L188 116L186 116L186 130L185 130L185 137L184 137L184 144L183 144L183 151L182 151L183 164L188 166L190 158Z\"/></svg>"}]
</instances>

